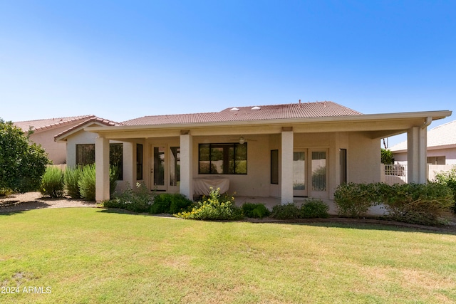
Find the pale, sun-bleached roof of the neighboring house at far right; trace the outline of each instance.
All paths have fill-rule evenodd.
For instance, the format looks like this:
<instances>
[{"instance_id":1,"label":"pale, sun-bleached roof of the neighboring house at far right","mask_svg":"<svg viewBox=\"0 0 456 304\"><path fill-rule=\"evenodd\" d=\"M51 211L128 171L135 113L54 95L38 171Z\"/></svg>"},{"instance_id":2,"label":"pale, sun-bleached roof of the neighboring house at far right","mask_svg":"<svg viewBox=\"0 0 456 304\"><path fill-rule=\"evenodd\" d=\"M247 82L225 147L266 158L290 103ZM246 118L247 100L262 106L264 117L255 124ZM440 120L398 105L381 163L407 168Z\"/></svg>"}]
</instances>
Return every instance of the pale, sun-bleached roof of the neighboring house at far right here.
<instances>
[{"instance_id":1,"label":"pale, sun-bleached roof of the neighboring house at far right","mask_svg":"<svg viewBox=\"0 0 456 304\"><path fill-rule=\"evenodd\" d=\"M433 127L427 131L427 147L456 145L456 120ZM390 148L391 151L407 150L407 140Z\"/></svg>"}]
</instances>

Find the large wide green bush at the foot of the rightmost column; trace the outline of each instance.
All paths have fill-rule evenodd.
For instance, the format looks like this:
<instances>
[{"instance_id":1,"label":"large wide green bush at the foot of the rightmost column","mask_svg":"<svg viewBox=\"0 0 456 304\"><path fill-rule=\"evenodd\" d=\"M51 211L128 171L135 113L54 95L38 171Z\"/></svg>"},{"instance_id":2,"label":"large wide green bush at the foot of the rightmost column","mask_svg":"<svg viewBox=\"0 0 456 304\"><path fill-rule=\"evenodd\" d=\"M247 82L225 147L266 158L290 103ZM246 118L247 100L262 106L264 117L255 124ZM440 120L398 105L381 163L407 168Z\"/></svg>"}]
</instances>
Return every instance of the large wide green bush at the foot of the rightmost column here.
<instances>
[{"instance_id":1,"label":"large wide green bush at the foot of the rightmost column","mask_svg":"<svg viewBox=\"0 0 456 304\"><path fill-rule=\"evenodd\" d=\"M435 182L385 185L379 196L388 218L413 224L445 224L455 206L451 189Z\"/></svg>"}]
</instances>

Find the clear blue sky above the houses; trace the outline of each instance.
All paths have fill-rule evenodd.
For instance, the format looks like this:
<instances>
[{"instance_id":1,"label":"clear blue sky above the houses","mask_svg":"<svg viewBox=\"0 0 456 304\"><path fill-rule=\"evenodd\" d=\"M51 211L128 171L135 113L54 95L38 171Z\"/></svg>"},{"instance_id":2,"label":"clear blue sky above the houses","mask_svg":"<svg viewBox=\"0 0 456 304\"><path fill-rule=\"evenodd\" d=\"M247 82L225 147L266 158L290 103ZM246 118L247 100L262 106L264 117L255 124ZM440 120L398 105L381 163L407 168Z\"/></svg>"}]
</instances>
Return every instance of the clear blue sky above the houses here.
<instances>
[{"instance_id":1,"label":"clear blue sky above the houses","mask_svg":"<svg viewBox=\"0 0 456 304\"><path fill-rule=\"evenodd\" d=\"M0 117L455 110L454 16L456 1L0 1Z\"/></svg>"}]
</instances>

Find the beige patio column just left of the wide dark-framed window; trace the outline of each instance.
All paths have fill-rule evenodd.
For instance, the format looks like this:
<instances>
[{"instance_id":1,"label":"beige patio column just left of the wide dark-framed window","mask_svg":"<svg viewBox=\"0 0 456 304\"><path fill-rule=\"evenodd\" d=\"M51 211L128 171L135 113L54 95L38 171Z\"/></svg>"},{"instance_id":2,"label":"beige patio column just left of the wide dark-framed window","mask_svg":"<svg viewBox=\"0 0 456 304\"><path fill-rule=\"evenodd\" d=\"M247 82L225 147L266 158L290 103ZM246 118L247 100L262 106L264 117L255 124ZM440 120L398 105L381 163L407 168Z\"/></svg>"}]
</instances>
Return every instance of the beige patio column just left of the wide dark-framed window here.
<instances>
[{"instance_id":1,"label":"beige patio column just left of the wide dark-framed window","mask_svg":"<svg viewBox=\"0 0 456 304\"><path fill-rule=\"evenodd\" d=\"M193 199L193 138L190 131L180 132L180 194Z\"/></svg>"}]
</instances>

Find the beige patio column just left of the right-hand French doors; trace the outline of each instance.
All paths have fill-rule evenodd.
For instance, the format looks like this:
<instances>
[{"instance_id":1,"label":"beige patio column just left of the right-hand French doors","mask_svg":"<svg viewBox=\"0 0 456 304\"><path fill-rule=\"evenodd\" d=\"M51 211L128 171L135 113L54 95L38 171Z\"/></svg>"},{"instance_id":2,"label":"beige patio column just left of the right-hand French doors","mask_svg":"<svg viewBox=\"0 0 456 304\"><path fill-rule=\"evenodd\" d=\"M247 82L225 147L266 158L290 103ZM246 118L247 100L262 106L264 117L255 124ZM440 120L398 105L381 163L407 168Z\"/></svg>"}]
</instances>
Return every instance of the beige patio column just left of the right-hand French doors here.
<instances>
[{"instance_id":1,"label":"beige patio column just left of the right-hand French doors","mask_svg":"<svg viewBox=\"0 0 456 304\"><path fill-rule=\"evenodd\" d=\"M283 127L281 134L281 204L293 202L293 128Z\"/></svg>"}]
</instances>

